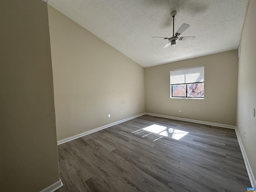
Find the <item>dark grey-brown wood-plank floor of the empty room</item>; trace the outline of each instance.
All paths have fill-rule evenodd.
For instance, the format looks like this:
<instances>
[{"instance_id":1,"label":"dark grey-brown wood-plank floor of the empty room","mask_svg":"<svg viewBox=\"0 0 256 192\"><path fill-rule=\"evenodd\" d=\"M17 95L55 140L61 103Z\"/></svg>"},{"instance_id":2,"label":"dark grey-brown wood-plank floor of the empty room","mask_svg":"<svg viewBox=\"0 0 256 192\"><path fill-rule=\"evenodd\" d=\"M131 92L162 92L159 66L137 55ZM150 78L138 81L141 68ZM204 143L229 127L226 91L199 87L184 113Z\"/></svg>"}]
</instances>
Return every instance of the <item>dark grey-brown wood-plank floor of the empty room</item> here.
<instances>
[{"instance_id":1,"label":"dark grey-brown wood-plank floor of the empty room","mask_svg":"<svg viewBox=\"0 0 256 192\"><path fill-rule=\"evenodd\" d=\"M178 140L179 139L179 140ZM57 192L242 192L235 131L140 116L58 146Z\"/></svg>"}]
</instances>

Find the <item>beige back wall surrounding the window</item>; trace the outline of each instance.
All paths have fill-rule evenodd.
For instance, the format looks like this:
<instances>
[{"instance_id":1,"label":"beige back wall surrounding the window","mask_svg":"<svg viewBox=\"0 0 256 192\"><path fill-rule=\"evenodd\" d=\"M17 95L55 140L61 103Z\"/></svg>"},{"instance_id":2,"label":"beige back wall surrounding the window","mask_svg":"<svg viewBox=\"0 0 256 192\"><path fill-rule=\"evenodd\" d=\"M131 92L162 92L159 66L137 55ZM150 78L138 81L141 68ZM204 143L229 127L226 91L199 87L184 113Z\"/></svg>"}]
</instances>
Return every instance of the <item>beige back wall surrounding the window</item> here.
<instances>
[{"instance_id":1,"label":"beige back wall surrounding the window","mask_svg":"<svg viewBox=\"0 0 256 192\"><path fill-rule=\"evenodd\" d=\"M204 100L170 98L170 70L202 65ZM237 74L237 50L145 68L146 112L236 125Z\"/></svg>"}]
</instances>

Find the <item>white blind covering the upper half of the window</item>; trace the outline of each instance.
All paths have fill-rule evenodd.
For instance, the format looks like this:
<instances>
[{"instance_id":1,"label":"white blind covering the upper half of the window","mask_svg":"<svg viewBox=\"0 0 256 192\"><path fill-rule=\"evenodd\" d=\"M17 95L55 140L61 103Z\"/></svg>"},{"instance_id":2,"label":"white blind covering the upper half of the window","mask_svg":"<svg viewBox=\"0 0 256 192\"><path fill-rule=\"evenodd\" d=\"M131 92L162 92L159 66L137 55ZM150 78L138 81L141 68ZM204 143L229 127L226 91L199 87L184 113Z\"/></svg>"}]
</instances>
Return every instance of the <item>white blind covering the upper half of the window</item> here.
<instances>
[{"instance_id":1,"label":"white blind covering the upper half of the window","mask_svg":"<svg viewBox=\"0 0 256 192\"><path fill-rule=\"evenodd\" d=\"M171 70L171 85L204 82L204 66Z\"/></svg>"}]
</instances>

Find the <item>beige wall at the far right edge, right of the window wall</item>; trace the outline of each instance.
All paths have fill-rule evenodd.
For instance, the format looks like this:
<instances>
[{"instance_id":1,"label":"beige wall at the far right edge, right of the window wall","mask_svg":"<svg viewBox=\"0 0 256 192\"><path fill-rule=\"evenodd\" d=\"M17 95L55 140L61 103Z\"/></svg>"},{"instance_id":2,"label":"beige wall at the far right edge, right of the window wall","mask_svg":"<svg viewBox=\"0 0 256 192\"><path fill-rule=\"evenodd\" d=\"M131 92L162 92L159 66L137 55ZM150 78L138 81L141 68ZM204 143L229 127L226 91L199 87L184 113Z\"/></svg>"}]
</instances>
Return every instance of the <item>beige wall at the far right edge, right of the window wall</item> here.
<instances>
[{"instance_id":1,"label":"beige wall at the far right edge, right of the window wall","mask_svg":"<svg viewBox=\"0 0 256 192\"><path fill-rule=\"evenodd\" d=\"M250 0L241 38L238 60L238 100L236 127L254 176L256 176L256 0ZM243 129L241 129L241 125ZM244 138L246 132L246 138Z\"/></svg>"}]
</instances>

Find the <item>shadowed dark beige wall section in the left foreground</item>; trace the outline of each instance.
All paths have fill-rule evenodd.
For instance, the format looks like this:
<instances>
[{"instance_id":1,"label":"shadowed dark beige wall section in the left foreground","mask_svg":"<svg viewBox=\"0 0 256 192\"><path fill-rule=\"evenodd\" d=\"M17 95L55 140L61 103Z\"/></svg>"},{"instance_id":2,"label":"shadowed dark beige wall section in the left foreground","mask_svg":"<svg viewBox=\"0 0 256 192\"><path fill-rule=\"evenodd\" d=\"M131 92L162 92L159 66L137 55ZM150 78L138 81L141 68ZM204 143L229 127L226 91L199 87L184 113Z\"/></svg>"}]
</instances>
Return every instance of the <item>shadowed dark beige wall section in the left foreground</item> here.
<instances>
[{"instance_id":1,"label":"shadowed dark beige wall section in the left foreground","mask_svg":"<svg viewBox=\"0 0 256 192\"><path fill-rule=\"evenodd\" d=\"M47 4L0 3L0 191L59 180Z\"/></svg>"}]
</instances>

